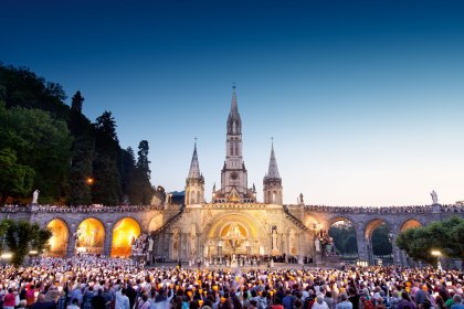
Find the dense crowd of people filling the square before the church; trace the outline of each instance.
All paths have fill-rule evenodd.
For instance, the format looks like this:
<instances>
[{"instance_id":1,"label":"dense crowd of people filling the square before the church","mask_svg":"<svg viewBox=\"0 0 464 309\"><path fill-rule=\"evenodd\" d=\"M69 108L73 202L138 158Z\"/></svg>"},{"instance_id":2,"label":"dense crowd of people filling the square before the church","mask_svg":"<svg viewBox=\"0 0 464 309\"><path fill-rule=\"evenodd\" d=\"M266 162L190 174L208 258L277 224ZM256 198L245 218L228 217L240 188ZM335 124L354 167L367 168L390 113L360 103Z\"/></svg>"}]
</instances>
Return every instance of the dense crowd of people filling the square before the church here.
<instances>
[{"instance_id":1,"label":"dense crowd of people filling the square before the church","mask_svg":"<svg viewBox=\"0 0 464 309\"><path fill-rule=\"evenodd\" d=\"M463 309L463 273L433 268L146 268L131 259L4 266L0 302L70 309Z\"/></svg>"}]
</instances>

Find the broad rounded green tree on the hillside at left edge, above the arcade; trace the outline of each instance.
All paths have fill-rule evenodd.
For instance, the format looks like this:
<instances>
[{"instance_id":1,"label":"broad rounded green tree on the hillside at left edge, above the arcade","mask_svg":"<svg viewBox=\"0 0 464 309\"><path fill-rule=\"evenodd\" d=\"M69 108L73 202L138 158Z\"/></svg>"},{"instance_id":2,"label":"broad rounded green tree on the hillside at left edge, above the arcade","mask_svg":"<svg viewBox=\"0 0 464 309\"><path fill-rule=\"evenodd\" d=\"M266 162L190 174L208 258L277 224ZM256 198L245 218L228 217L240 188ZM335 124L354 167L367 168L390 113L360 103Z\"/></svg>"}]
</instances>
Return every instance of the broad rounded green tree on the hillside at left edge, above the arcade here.
<instances>
[{"instance_id":1,"label":"broad rounded green tree on the hillside at left edge, above the arcade","mask_svg":"<svg viewBox=\"0 0 464 309\"><path fill-rule=\"evenodd\" d=\"M19 172L17 185L13 185L17 189L1 192L2 195L25 198L34 189L30 185L30 177L33 175L33 185L40 189L42 202L62 200L67 187L72 141L66 124L53 120L43 110L6 109L1 103L0 122L3 126L0 150L3 158L10 158L10 171ZM7 187L13 188L11 184Z\"/></svg>"}]
</instances>

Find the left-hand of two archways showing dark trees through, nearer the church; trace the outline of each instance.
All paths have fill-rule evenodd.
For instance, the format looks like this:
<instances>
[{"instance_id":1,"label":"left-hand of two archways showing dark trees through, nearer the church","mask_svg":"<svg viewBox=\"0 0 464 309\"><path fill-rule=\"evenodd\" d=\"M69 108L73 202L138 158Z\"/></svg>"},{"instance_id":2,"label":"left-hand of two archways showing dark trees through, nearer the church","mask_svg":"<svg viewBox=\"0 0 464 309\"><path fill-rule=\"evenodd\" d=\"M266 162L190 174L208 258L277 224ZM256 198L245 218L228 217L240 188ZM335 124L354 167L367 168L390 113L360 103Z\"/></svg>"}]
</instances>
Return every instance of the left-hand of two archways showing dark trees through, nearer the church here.
<instances>
[{"instance_id":1,"label":"left-hand of two archways showing dark trees through, nearer the church","mask_svg":"<svg viewBox=\"0 0 464 309\"><path fill-rule=\"evenodd\" d=\"M351 221L346 219L335 221L330 225L328 234L333 239L333 255L338 255L345 260L358 258L358 242L356 239L355 225Z\"/></svg>"}]
</instances>

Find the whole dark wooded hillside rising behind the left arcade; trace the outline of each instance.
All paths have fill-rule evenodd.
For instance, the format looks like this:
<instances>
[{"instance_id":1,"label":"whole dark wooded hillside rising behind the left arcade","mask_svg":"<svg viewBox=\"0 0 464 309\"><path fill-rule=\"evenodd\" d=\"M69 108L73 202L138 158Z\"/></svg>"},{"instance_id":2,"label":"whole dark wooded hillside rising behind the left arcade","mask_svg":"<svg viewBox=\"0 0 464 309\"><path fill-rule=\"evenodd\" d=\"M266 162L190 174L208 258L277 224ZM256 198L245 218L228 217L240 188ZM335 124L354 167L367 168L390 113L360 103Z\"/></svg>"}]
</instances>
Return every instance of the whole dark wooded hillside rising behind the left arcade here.
<instances>
[{"instance_id":1,"label":"whole dark wooded hillside rising behind the left arcade","mask_svg":"<svg viewBox=\"0 0 464 309\"><path fill-rule=\"evenodd\" d=\"M71 107L65 97L60 84L0 64L0 202L28 203L35 189L40 203L86 204L89 192L93 203L149 202L148 142L136 162L119 147L112 113L93 124L81 92Z\"/></svg>"}]
</instances>

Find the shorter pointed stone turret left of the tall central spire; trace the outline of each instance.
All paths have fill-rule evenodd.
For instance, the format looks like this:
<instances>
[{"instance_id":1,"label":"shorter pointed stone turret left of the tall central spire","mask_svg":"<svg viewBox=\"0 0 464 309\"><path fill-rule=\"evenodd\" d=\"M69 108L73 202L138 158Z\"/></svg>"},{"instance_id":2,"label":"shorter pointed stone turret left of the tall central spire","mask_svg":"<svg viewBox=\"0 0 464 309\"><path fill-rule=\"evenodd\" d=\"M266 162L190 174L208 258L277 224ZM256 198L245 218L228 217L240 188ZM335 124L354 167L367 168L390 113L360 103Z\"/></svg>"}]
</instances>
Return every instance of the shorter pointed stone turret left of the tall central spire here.
<instances>
[{"instance_id":1,"label":"shorter pointed stone turret left of the tall central spire","mask_svg":"<svg viewBox=\"0 0 464 309\"><path fill-rule=\"evenodd\" d=\"M186 205L200 204L204 196L204 178L200 172L198 162L197 141L194 142L189 175L186 180Z\"/></svg>"}]
</instances>

